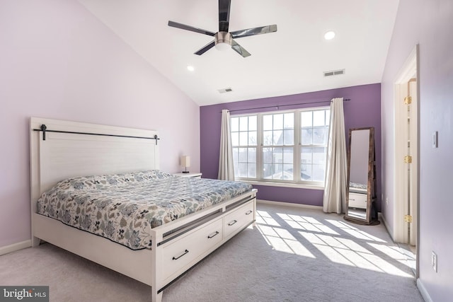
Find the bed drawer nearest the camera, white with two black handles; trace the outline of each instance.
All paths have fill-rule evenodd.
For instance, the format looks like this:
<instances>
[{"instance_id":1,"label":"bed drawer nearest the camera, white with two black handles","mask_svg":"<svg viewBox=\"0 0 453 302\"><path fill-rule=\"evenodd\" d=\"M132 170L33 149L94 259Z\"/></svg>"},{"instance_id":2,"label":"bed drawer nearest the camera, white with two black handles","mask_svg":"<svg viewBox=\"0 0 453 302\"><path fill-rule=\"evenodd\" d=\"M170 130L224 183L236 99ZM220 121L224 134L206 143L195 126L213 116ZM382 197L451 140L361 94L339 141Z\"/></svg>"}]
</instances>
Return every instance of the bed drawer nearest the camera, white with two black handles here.
<instances>
[{"instance_id":1,"label":"bed drawer nearest the camera, white with two black handles","mask_svg":"<svg viewBox=\"0 0 453 302\"><path fill-rule=\"evenodd\" d=\"M162 248L162 277L167 279L192 267L203 252L222 242L222 218L188 235L176 238ZM171 280L169 280L171 281Z\"/></svg>"}]
</instances>

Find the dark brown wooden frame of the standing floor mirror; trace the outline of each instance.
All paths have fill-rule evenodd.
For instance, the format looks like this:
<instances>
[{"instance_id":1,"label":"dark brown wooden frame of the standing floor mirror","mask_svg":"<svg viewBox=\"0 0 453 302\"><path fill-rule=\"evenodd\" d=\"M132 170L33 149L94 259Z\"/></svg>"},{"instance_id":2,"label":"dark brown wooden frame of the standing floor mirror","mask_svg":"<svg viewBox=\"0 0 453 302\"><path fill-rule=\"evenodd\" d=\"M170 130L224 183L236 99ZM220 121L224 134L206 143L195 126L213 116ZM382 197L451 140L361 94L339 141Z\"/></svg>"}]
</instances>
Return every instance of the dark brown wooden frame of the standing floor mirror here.
<instances>
[{"instance_id":1,"label":"dark brown wooden frame of the standing floor mirror","mask_svg":"<svg viewBox=\"0 0 453 302\"><path fill-rule=\"evenodd\" d=\"M369 130L369 146L368 146L368 173L367 173L367 209L366 218L360 219L356 216L349 216L349 182L350 182L350 163L351 163L351 143L352 132L357 130ZM376 201L376 161L374 151L374 127L362 127L349 129L349 149L348 149L348 179L346 182L346 208L345 219L359 223L371 224L377 222L377 213L374 213L374 202Z\"/></svg>"}]
</instances>

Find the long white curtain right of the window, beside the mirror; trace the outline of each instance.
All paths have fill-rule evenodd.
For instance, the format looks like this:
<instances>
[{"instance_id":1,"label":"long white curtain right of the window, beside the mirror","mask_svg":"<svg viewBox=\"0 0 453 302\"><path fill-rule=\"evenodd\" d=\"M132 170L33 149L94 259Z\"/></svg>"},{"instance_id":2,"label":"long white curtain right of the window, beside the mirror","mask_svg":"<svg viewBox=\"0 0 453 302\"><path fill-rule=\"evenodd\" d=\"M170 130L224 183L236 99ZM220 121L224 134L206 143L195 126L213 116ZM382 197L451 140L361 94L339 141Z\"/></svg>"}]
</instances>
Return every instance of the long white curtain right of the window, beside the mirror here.
<instances>
[{"instance_id":1,"label":"long white curtain right of the window, beside the mirror","mask_svg":"<svg viewBox=\"0 0 453 302\"><path fill-rule=\"evenodd\" d=\"M345 212L347 175L343 98L334 98L331 102L331 122L328 132L326 181L323 197L323 211L326 213L336 212L341 214Z\"/></svg>"}]
</instances>

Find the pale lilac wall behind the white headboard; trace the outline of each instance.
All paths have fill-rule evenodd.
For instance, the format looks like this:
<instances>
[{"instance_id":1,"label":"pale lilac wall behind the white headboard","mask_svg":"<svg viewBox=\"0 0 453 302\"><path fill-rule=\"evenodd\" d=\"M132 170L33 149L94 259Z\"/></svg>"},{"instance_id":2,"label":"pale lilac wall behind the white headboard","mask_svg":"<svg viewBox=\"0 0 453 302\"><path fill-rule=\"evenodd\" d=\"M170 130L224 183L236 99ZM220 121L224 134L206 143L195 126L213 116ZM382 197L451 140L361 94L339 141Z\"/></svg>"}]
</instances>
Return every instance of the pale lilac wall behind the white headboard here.
<instances>
[{"instance_id":1,"label":"pale lilac wall behind the white headboard","mask_svg":"<svg viewBox=\"0 0 453 302\"><path fill-rule=\"evenodd\" d=\"M200 108L75 0L0 0L0 248L30 239L30 116L159 130L200 169Z\"/></svg>"}]
</instances>

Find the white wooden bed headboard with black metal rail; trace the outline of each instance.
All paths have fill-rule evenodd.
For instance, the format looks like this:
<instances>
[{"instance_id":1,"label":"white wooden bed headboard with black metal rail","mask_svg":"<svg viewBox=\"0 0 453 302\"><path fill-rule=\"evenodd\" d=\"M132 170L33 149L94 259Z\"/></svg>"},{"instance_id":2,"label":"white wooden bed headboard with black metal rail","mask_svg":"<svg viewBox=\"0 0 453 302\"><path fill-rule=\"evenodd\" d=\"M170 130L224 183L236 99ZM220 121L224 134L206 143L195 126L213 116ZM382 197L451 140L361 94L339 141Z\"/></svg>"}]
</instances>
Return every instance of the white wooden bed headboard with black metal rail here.
<instances>
[{"instance_id":1,"label":"white wooden bed headboard with black metal rail","mask_svg":"<svg viewBox=\"0 0 453 302\"><path fill-rule=\"evenodd\" d=\"M43 124L45 132L41 128ZM32 213L36 212L40 195L60 180L159 169L157 134L153 130L31 117Z\"/></svg>"}]
</instances>

